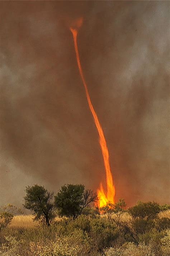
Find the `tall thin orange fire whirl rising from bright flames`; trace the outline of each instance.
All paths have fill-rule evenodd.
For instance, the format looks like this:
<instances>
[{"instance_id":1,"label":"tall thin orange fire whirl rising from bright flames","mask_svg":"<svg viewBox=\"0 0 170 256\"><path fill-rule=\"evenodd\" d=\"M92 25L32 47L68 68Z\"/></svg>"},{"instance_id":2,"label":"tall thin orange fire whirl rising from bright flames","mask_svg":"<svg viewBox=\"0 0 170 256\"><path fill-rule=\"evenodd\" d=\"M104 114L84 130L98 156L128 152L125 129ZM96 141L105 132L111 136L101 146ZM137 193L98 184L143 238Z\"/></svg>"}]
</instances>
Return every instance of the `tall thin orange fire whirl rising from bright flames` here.
<instances>
[{"instance_id":1,"label":"tall thin orange fire whirl rising from bright flames","mask_svg":"<svg viewBox=\"0 0 170 256\"><path fill-rule=\"evenodd\" d=\"M93 104L91 103L91 99L89 96L89 91L88 91L88 87L82 72L82 67L81 67L81 63L80 63L80 57L79 57L79 50L77 47L77 28L79 28L82 24L82 18L77 20L79 22L75 22L74 26L70 27L70 30L72 32L72 36L74 39L74 46L75 46L75 52L76 52L76 58L77 58L77 64L79 67L79 72L80 72L80 76L82 79L82 82L84 84L85 87L85 92L86 92L86 98L88 100L88 104L89 104L89 108L90 111L93 115L93 119L96 125L96 128L98 130L98 134L99 134L99 143L100 143L100 148L101 148L101 152L103 154L103 160L104 160L104 167L105 167L105 173L106 173L106 185L107 185L107 193L104 191L103 188L103 184L100 183L100 188L97 190L97 194L98 194L98 206L99 207L103 207L105 206L108 202L114 204L115 202L115 187L114 187L114 183L113 183L113 176L112 176L112 172L110 170L110 163L109 163L109 151L107 148L107 143L104 137L104 133L103 133L103 129L100 125L98 116L94 110Z\"/></svg>"}]
</instances>

